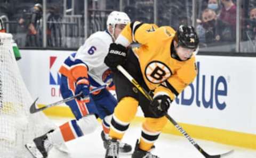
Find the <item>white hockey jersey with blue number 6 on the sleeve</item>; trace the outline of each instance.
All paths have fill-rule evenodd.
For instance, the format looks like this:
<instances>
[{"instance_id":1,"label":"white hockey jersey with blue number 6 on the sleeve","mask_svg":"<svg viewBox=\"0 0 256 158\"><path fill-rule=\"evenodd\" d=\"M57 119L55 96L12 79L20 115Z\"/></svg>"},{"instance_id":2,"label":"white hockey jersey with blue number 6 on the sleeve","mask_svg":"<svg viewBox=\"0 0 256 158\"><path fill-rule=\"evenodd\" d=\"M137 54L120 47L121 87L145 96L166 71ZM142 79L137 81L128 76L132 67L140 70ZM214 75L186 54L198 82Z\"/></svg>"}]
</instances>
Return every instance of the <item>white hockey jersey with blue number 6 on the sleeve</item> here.
<instances>
[{"instance_id":1,"label":"white hockey jersey with blue number 6 on the sleeve","mask_svg":"<svg viewBox=\"0 0 256 158\"><path fill-rule=\"evenodd\" d=\"M85 40L84 45L79 47L76 54L70 55L65 60L60 68L60 73L67 77L73 76L74 80L76 80L79 75L74 75L72 69L85 64L87 72L84 69L81 69L81 71L88 73L90 82L96 82L91 84L104 84L104 78L110 73L110 69L104 63L104 59L112 42L113 38L107 31L93 33Z\"/></svg>"}]
</instances>

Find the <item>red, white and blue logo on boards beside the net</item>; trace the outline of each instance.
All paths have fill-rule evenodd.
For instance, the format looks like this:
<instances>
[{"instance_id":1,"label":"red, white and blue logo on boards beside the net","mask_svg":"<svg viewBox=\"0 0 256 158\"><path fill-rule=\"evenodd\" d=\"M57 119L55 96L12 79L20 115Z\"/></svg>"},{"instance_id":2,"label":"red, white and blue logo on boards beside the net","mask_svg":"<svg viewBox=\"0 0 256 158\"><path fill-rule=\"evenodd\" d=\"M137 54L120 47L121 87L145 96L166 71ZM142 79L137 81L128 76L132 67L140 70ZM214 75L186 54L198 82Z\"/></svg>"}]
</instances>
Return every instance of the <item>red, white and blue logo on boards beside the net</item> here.
<instances>
[{"instance_id":1,"label":"red, white and blue logo on boards beside the net","mask_svg":"<svg viewBox=\"0 0 256 158\"><path fill-rule=\"evenodd\" d=\"M60 74L58 73L61 62L58 61L58 57L50 57L50 85L60 84Z\"/></svg>"}]
</instances>

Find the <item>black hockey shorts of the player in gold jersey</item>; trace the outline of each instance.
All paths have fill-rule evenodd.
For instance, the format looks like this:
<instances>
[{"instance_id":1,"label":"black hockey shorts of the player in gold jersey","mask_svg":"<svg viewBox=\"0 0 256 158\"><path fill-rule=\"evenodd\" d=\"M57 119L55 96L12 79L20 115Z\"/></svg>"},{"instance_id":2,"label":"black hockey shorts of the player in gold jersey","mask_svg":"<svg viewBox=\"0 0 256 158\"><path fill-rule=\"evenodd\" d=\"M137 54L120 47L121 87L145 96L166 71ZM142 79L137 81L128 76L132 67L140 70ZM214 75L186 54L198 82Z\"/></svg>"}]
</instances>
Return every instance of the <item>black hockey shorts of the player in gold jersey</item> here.
<instances>
[{"instance_id":1,"label":"black hockey shorts of the player in gold jersey","mask_svg":"<svg viewBox=\"0 0 256 158\"><path fill-rule=\"evenodd\" d=\"M127 52L127 60L123 65L126 71L145 89L150 92L148 86L143 80L138 58L134 55L132 49ZM125 96L131 96L139 101L145 117L156 118L156 116L149 110L150 102L122 73L114 73L114 83L116 85L117 99L120 101Z\"/></svg>"}]
</instances>

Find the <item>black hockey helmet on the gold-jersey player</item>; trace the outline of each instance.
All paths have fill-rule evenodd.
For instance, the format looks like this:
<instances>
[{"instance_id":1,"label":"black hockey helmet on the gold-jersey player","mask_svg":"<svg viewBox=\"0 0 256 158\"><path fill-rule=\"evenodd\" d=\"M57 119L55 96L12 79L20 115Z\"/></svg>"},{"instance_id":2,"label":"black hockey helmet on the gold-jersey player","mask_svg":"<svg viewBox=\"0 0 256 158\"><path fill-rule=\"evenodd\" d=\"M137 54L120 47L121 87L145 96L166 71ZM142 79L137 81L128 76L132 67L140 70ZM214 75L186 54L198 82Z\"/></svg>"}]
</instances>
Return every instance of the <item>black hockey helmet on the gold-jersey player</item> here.
<instances>
[{"instance_id":1,"label":"black hockey helmet on the gold-jersey player","mask_svg":"<svg viewBox=\"0 0 256 158\"><path fill-rule=\"evenodd\" d=\"M179 46L197 49L199 44L199 39L197 33L192 26L180 25L179 29L175 33L174 37Z\"/></svg>"}]
</instances>

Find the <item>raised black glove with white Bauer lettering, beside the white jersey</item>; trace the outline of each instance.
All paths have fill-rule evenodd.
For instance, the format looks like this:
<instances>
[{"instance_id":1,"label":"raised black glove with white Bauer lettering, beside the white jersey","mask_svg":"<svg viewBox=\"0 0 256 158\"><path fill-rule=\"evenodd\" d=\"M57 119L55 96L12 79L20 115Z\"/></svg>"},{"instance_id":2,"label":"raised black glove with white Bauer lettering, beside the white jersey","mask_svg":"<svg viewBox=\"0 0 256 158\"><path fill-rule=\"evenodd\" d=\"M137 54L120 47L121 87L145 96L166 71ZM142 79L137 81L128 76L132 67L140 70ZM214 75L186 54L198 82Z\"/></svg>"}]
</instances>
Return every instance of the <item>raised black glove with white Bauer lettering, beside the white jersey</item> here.
<instances>
[{"instance_id":1,"label":"raised black glove with white Bauer lettering, beside the white jersey","mask_svg":"<svg viewBox=\"0 0 256 158\"><path fill-rule=\"evenodd\" d=\"M116 43L111 43L108 51L108 55L105 57L104 63L112 70L116 71L117 65L122 65L125 63L127 56L127 49Z\"/></svg>"}]
</instances>

